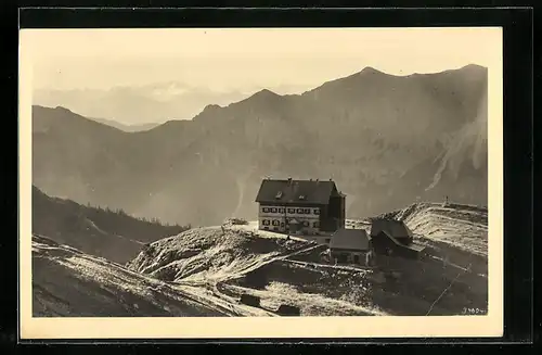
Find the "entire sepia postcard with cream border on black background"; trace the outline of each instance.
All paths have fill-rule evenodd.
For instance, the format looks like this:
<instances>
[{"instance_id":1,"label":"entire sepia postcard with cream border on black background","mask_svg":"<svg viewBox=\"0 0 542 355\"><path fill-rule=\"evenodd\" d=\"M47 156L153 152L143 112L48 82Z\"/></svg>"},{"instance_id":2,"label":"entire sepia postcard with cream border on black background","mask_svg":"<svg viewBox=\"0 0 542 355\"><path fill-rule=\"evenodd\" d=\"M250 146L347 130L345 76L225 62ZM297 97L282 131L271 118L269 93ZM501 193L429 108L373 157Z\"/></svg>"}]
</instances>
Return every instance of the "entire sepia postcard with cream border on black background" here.
<instances>
[{"instance_id":1,"label":"entire sepia postcard with cream border on black background","mask_svg":"<svg viewBox=\"0 0 542 355\"><path fill-rule=\"evenodd\" d=\"M22 29L22 339L499 337L499 27Z\"/></svg>"}]
</instances>

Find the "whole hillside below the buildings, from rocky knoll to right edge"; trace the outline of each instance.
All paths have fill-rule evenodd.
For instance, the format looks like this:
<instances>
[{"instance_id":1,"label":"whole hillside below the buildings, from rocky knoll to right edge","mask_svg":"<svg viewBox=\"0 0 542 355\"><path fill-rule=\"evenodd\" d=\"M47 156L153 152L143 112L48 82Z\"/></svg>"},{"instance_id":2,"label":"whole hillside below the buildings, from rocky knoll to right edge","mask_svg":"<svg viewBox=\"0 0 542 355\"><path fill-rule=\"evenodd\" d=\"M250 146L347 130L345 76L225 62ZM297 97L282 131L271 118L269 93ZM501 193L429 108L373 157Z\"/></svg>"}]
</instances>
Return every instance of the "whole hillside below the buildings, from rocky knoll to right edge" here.
<instances>
[{"instance_id":1,"label":"whole hillside below the buildings, from rocky knoll to right edge","mask_svg":"<svg viewBox=\"0 0 542 355\"><path fill-rule=\"evenodd\" d=\"M466 223L455 225L466 230ZM372 268L330 265L322 258L325 245L256 228L193 229L152 243L128 265L177 286L208 289L219 297L257 295L267 309L295 305L302 316L487 312L487 258L468 249L416 234L417 242L428 246L421 261L378 256Z\"/></svg>"}]
</instances>

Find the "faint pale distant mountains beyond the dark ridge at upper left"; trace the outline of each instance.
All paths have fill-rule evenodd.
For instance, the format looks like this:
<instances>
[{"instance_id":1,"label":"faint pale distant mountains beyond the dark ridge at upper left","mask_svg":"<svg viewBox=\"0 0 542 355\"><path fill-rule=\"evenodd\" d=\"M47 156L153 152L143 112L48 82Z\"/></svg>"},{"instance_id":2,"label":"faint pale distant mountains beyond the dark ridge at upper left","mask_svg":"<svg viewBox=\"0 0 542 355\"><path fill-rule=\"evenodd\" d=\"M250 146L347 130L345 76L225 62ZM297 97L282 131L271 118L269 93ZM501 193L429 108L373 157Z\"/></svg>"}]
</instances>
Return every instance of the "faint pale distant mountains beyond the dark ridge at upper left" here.
<instances>
[{"instance_id":1,"label":"faint pale distant mountains beyond the dark ridge at upper left","mask_svg":"<svg viewBox=\"0 0 542 355\"><path fill-rule=\"evenodd\" d=\"M301 90L296 86L280 86L276 89L287 93ZM49 107L63 106L86 117L104 117L107 125L134 131L146 129L155 122L188 119L208 104L230 104L249 97L250 93L233 89L218 91L167 81L111 89L41 88L34 91L33 103ZM133 123L134 126L119 123ZM144 126L139 127L140 125Z\"/></svg>"}]
</instances>

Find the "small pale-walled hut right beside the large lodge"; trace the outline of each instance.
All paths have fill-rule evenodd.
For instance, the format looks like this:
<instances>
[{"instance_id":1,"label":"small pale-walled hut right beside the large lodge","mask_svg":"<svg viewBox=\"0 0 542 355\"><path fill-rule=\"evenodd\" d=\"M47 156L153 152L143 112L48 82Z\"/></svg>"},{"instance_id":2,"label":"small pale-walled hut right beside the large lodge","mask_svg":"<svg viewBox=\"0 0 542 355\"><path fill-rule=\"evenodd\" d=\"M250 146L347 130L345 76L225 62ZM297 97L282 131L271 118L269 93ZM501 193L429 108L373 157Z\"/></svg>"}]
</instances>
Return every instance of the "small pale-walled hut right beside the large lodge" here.
<instances>
[{"instance_id":1,"label":"small pale-walled hut right beside the large lodge","mask_svg":"<svg viewBox=\"0 0 542 355\"><path fill-rule=\"evenodd\" d=\"M330 256L335 264L369 265L372 248L367 232L364 229L338 229L330 241Z\"/></svg>"}]
</instances>

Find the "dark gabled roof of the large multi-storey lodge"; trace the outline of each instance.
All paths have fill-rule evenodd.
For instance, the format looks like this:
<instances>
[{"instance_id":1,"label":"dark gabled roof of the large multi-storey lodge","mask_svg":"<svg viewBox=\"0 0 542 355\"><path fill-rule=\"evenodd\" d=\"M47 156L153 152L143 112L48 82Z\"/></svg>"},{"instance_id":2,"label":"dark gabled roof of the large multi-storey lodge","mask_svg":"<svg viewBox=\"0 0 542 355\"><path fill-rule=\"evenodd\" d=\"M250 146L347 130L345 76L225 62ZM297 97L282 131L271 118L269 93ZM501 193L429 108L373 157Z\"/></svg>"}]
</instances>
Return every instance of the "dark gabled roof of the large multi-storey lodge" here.
<instances>
[{"instance_id":1,"label":"dark gabled roof of the large multi-storey lodge","mask_svg":"<svg viewBox=\"0 0 542 355\"><path fill-rule=\"evenodd\" d=\"M256 196L259 203L327 204L332 195L338 195L334 181L271 180L261 181Z\"/></svg>"}]
</instances>

